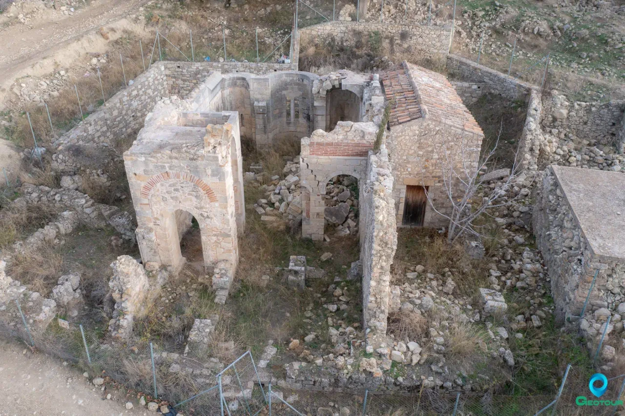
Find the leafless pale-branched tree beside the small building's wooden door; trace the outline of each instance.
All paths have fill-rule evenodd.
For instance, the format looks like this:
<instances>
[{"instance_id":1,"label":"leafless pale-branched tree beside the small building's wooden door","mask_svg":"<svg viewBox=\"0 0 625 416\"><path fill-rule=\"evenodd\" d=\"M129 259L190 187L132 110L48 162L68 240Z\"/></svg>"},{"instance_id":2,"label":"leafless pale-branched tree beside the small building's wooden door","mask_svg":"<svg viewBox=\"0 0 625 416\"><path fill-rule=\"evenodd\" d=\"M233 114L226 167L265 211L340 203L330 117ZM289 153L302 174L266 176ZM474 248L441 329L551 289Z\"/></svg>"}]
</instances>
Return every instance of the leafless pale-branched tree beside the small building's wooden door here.
<instances>
[{"instance_id":1,"label":"leafless pale-branched tree beside the small building's wooden door","mask_svg":"<svg viewBox=\"0 0 625 416\"><path fill-rule=\"evenodd\" d=\"M480 232L482 227L475 224L476 220L482 215L491 215L490 212L499 207L515 205L521 197L520 193L506 197L516 185L516 177L522 171L518 158L519 147L516 149L514 162L506 179L494 189L481 185L481 174L492 169L492 159L499 146L501 131L500 126L494 146L477 159L471 153L478 149L467 147L466 135L463 134L460 140L457 136L446 137L444 134L439 137L442 139L442 145L437 146L437 165L444 194L451 204L451 211L443 212L437 208L429 192L426 192L426 197L434 212L449 220L447 242L450 244L464 234L484 237Z\"/></svg>"}]
</instances>

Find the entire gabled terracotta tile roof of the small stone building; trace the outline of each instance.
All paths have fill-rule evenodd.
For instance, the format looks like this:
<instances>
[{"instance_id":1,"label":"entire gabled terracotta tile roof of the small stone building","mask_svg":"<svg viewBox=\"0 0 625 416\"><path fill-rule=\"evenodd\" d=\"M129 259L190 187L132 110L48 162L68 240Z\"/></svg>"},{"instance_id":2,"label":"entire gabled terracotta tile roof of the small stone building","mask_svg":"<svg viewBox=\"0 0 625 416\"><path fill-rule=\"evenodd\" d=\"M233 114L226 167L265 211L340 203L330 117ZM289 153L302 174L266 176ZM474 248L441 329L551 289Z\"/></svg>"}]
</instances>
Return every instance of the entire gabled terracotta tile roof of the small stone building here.
<instances>
[{"instance_id":1,"label":"entire gabled terracotta tile roof of the small stone building","mask_svg":"<svg viewBox=\"0 0 625 416\"><path fill-rule=\"evenodd\" d=\"M445 76L404 61L397 71L383 72L381 77L386 99L392 103L391 126L427 114L449 126L483 135Z\"/></svg>"}]
</instances>

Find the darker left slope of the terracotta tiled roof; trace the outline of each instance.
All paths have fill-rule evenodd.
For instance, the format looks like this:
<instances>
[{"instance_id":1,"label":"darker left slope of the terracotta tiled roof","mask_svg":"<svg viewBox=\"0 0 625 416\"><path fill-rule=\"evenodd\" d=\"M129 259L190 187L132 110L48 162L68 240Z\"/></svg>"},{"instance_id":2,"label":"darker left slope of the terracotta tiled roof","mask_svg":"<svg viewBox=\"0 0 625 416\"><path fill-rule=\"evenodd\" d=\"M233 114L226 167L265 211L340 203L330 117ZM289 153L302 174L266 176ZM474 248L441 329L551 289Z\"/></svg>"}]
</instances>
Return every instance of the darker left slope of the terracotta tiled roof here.
<instances>
[{"instance_id":1,"label":"darker left slope of the terracotta tiled roof","mask_svg":"<svg viewBox=\"0 0 625 416\"><path fill-rule=\"evenodd\" d=\"M386 100L391 102L391 126L421 117L421 108L406 69L402 66L397 71L382 72L381 76Z\"/></svg>"}]
</instances>

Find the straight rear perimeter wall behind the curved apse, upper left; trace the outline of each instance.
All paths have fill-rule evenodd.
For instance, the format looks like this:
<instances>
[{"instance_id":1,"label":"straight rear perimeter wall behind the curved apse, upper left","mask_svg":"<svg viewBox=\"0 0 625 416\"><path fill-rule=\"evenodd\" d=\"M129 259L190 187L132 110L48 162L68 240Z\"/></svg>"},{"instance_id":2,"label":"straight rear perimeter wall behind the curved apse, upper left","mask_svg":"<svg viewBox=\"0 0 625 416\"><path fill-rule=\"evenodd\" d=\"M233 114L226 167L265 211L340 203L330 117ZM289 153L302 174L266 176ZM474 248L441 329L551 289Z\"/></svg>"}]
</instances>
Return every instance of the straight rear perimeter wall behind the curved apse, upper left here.
<instances>
[{"instance_id":1,"label":"straight rear perimeter wall behind the curved apse, upper left","mask_svg":"<svg viewBox=\"0 0 625 416\"><path fill-rule=\"evenodd\" d=\"M297 71L297 61L291 64L274 62L163 62L167 87L170 95L186 97L195 87L206 79L213 71L222 74L232 72L248 72L255 75L266 75L279 71Z\"/></svg>"}]
</instances>

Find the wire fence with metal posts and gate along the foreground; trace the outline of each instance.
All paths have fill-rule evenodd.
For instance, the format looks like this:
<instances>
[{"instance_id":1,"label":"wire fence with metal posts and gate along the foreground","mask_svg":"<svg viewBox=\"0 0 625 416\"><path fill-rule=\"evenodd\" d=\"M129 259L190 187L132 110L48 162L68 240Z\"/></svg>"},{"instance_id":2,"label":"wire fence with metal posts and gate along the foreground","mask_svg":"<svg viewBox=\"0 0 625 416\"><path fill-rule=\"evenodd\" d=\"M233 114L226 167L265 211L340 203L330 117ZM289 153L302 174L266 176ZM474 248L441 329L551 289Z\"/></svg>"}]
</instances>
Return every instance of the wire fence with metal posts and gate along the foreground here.
<instances>
[{"instance_id":1,"label":"wire fence with metal posts and gate along the foreground","mask_svg":"<svg viewBox=\"0 0 625 416\"><path fill-rule=\"evenodd\" d=\"M289 391L264 385L250 352L223 367L214 359L185 357L148 340L111 342L104 330L55 317L45 329L29 319L31 302L6 304L0 335L108 377L147 400L166 400L188 415L611 415L622 405L584 405L597 399L586 367L569 365L554 395L497 395L422 388L409 394ZM22 309L23 306L23 309ZM265 375L267 378L267 375ZM622 398L625 375L607 380L602 400ZM585 402L584 402L585 403Z\"/></svg>"}]
</instances>

